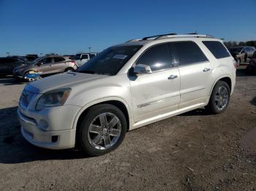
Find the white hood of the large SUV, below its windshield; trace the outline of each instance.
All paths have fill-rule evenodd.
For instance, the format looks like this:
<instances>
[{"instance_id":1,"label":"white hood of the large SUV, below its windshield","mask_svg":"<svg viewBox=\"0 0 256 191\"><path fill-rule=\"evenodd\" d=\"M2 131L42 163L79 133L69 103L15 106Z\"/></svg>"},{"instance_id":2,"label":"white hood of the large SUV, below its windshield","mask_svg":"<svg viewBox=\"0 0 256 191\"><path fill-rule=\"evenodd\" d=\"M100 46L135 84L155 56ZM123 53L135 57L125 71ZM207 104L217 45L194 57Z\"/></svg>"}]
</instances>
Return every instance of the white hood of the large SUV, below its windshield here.
<instances>
[{"instance_id":1,"label":"white hood of the large SUV, below its windshield","mask_svg":"<svg viewBox=\"0 0 256 191\"><path fill-rule=\"evenodd\" d=\"M50 90L56 90L64 87L74 87L83 82L90 82L95 79L108 77L99 74L84 74L78 72L65 72L50 77L45 77L37 81L31 82L29 86L37 89L37 93L45 93Z\"/></svg>"}]
</instances>

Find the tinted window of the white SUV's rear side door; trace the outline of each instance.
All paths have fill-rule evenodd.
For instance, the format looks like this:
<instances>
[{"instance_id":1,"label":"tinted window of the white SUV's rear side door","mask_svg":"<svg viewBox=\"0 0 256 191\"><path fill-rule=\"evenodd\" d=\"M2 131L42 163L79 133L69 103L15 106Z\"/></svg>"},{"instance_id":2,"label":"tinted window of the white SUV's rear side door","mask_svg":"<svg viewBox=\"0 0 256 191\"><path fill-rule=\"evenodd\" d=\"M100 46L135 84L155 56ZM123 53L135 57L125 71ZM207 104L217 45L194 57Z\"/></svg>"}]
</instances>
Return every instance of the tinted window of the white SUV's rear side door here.
<instances>
[{"instance_id":1,"label":"tinted window of the white SUV's rear side door","mask_svg":"<svg viewBox=\"0 0 256 191\"><path fill-rule=\"evenodd\" d=\"M195 42L174 42L173 44L180 66L208 61Z\"/></svg>"}]
</instances>

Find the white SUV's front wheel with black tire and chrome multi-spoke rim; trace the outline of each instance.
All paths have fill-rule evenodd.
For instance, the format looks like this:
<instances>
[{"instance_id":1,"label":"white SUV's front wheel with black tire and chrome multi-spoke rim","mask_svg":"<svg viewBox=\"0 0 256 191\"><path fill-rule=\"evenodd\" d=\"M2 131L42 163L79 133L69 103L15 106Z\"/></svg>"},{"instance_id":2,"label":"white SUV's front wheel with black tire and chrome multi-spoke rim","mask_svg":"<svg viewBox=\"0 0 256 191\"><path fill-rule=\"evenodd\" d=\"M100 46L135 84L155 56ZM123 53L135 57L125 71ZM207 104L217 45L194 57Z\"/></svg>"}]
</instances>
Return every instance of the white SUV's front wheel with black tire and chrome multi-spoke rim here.
<instances>
[{"instance_id":1,"label":"white SUV's front wheel with black tire and chrome multi-spoke rim","mask_svg":"<svg viewBox=\"0 0 256 191\"><path fill-rule=\"evenodd\" d=\"M116 122L116 125L110 128L110 122ZM99 104L86 112L78 127L78 139L86 154L99 156L116 149L124 141L126 132L127 120L124 113L116 106Z\"/></svg>"}]
</instances>

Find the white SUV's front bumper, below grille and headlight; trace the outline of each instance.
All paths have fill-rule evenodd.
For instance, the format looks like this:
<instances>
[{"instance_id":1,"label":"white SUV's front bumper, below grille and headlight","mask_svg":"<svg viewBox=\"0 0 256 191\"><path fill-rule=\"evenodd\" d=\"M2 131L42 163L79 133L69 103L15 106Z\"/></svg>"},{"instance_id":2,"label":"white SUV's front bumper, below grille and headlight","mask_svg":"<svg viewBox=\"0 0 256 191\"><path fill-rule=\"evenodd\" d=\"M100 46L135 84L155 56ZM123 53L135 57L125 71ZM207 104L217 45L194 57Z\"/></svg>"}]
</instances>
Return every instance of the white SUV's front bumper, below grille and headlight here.
<instances>
[{"instance_id":1,"label":"white SUV's front bumper, below grille and headlight","mask_svg":"<svg viewBox=\"0 0 256 191\"><path fill-rule=\"evenodd\" d=\"M26 115L21 112L21 109L18 109L18 118L21 125L21 133L23 137L29 141L31 144L34 144L37 147L43 147L48 149L69 149L75 147L75 131L76 129L72 127L72 122L69 119L65 122L66 126L54 127L53 125L59 124L62 125L61 120L65 120L65 116L53 114L50 112L50 118L55 119L53 122L49 120L49 116L45 116L45 119L48 119L48 128L50 130L44 130L42 124L39 122L42 120L39 117L39 122L37 117L31 118L30 115ZM72 113L70 113L72 115ZM74 114L75 117L75 114ZM58 123L59 122L59 123ZM56 130L54 130L56 129Z\"/></svg>"}]
</instances>

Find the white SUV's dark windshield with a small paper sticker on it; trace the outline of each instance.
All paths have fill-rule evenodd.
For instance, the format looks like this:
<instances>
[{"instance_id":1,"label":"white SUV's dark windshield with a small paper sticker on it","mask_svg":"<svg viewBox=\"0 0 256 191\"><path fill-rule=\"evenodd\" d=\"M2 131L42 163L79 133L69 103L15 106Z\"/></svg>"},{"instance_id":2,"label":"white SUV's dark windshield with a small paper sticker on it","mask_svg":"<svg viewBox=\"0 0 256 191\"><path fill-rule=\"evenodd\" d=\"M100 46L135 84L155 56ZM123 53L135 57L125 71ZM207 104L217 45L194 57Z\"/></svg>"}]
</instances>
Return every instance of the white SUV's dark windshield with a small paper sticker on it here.
<instances>
[{"instance_id":1,"label":"white SUV's dark windshield with a small paper sticker on it","mask_svg":"<svg viewBox=\"0 0 256 191\"><path fill-rule=\"evenodd\" d=\"M109 47L81 66L77 72L116 75L141 45Z\"/></svg>"}]
</instances>

